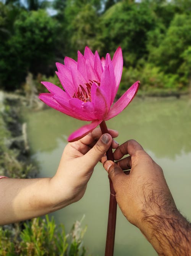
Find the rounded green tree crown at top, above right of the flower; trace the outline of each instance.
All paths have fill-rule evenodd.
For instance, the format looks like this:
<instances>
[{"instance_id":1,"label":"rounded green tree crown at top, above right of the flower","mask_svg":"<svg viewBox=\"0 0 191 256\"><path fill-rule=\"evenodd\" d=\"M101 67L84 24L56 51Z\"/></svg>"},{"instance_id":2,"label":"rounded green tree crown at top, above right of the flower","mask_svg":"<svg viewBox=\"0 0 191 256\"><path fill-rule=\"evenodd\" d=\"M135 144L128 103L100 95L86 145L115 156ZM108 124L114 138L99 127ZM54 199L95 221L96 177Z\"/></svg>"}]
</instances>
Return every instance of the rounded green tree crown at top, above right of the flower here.
<instances>
[{"instance_id":1,"label":"rounded green tree crown at top, above right of the flower","mask_svg":"<svg viewBox=\"0 0 191 256\"><path fill-rule=\"evenodd\" d=\"M125 64L135 66L147 54L147 33L155 28L156 19L146 2L119 2L102 18L104 52L123 49ZM128 57L127 57L128 56Z\"/></svg>"}]
</instances>

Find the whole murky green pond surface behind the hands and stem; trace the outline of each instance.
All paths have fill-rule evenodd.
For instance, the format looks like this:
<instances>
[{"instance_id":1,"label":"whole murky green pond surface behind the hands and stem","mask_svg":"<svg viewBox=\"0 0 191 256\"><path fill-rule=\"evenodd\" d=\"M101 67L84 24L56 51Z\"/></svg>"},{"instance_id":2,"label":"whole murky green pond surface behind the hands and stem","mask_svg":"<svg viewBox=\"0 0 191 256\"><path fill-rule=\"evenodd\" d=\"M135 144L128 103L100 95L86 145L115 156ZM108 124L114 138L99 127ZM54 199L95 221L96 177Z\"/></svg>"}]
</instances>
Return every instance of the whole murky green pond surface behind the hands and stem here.
<instances>
[{"instance_id":1,"label":"whole murky green pond surface behind the hands and stem","mask_svg":"<svg viewBox=\"0 0 191 256\"><path fill-rule=\"evenodd\" d=\"M40 177L52 177L70 133L84 122L75 120L51 108L26 114L32 158L40 167ZM191 99L135 98L107 126L118 130L116 139L123 143L136 139L163 168L167 183L178 209L191 219ZM78 171L78 170L76 170ZM79 202L53 215L69 231L75 220L87 225L84 246L88 253L104 255L107 230L109 184L107 172L100 163L95 167L86 193ZM135 226L117 210L115 256L157 255Z\"/></svg>"}]
</instances>

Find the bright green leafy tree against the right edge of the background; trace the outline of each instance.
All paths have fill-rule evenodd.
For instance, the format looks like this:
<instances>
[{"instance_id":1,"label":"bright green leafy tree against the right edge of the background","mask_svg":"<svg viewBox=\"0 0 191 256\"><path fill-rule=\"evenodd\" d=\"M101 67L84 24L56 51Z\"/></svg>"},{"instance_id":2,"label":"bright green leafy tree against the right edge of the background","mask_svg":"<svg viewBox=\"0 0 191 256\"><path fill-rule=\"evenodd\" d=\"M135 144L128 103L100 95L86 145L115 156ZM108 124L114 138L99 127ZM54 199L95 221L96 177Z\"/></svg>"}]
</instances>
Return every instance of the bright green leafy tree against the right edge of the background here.
<instances>
[{"instance_id":1,"label":"bright green leafy tree against the right edge of the background","mask_svg":"<svg viewBox=\"0 0 191 256\"><path fill-rule=\"evenodd\" d=\"M176 74L190 45L191 15L176 14L159 47L151 51L149 61L166 73Z\"/></svg>"}]
</instances>

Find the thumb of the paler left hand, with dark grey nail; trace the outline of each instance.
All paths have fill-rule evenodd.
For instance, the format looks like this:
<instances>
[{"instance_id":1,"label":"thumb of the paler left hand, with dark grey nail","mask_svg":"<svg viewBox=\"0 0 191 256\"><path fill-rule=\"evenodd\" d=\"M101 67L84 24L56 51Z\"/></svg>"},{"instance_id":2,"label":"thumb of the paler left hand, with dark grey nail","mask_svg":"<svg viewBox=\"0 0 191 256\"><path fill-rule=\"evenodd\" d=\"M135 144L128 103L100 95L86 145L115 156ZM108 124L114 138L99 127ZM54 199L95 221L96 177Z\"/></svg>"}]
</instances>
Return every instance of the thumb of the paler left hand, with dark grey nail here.
<instances>
[{"instance_id":1,"label":"thumb of the paler left hand, with dark grey nail","mask_svg":"<svg viewBox=\"0 0 191 256\"><path fill-rule=\"evenodd\" d=\"M82 158L84 163L88 164L90 168L94 168L97 162L104 156L106 151L112 144L112 136L108 133L104 133L97 143L91 148Z\"/></svg>"}]
</instances>

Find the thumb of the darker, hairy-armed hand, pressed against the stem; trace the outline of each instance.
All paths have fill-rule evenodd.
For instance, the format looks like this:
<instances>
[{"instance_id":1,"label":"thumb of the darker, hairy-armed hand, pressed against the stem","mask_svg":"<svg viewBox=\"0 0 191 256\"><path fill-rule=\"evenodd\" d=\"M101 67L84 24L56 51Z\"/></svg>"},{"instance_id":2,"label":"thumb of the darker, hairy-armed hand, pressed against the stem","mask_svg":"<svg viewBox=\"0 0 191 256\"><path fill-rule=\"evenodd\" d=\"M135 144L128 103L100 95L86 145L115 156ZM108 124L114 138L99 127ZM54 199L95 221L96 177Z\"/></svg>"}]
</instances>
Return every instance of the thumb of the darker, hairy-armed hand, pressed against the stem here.
<instances>
[{"instance_id":1,"label":"thumb of the darker, hairy-armed hand, pressed against the stem","mask_svg":"<svg viewBox=\"0 0 191 256\"><path fill-rule=\"evenodd\" d=\"M108 176L112 180L114 187L117 185L118 181L126 177L126 174L122 171L121 167L118 166L115 162L107 160L103 165L105 170L108 172Z\"/></svg>"}]
</instances>

